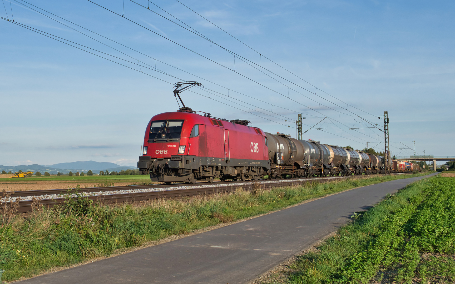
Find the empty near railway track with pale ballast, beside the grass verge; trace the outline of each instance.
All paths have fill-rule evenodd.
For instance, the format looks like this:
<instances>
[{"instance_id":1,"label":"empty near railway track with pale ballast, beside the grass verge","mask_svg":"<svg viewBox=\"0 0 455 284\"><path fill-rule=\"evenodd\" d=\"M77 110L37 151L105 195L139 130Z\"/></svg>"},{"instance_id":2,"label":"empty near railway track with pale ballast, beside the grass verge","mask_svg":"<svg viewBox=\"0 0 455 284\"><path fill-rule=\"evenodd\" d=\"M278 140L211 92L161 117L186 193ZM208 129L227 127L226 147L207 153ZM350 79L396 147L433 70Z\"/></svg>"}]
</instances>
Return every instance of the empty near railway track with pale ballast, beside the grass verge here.
<instances>
[{"instance_id":1,"label":"empty near railway track with pale ballast, beside the grass verge","mask_svg":"<svg viewBox=\"0 0 455 284\"><path fill-rule=\"evenodd\" d=\"M407 173L405 173L407 174ZM372 175L353 175L353 176L335 176L335 177L317 177L317 178L300 178L300 179L261 179L258 180L264 189L270 189L281 186L301 185L308 181L329 182L348 178L366 178L378 176ZM158 198L174 198L182 196L195 196L201 194L214 194L222 192L233 192L238 188L251 190L253 181L232 181L232 182L215 182L215 183L197 183L197 184L147 184L147 185L128 185L112 187L89 187L81 188L78 192L86 194L88 199L100 202L101 204L113 204L123 202L145 201ZM33 203L32 197L40 199L40 204L45 207L61 204L66 200L62 194L76 194L76 189L47 189L47 190L23 190L14 193L7 192L10 198L15 201L19 200L19 212L25 213L31 210ZM77 197L75 197L77 198ZM6 202L3 204L8 204Z\"/></svg>"}]
</instances>

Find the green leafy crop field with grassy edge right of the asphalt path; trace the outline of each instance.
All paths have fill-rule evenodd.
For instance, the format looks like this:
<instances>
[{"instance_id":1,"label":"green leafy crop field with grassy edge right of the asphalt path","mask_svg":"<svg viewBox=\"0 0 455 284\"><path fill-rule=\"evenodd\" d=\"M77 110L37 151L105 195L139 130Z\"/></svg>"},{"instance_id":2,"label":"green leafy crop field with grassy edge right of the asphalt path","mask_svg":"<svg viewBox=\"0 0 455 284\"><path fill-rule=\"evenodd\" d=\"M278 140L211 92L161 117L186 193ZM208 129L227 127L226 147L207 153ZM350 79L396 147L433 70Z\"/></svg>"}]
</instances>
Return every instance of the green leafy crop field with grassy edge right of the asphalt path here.
<instances>
[{"instance_id":1,"label":"green leafy crop field with grassy edge right of the asphalt path","mask_svg":"<svg viewBox=\"0 0 455 284\"><path fill-rule=\"evenodd\" d=\"M437 176L410 184L341 228L317 252L298 256L287 281L280 281L454 283L454 241L455 179Z\"/></svg>"}]
</instances>

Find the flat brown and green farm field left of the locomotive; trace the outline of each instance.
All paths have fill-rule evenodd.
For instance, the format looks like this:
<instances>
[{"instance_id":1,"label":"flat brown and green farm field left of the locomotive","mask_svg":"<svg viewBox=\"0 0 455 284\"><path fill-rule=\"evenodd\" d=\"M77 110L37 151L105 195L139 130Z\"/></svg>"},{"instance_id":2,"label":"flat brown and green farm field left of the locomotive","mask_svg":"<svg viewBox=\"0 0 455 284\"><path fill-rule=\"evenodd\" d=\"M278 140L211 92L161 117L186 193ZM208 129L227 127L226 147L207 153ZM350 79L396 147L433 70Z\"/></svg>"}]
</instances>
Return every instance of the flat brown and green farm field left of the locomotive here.
<instances>
[{"instance_id":1,"label":"flat brown and green farm field left of the locomotive","mask_svg":"<svg viewBox=\"0 0 455 284\"><path fill-rule=\"evenodd\" d=\"M93 176L40 176L28 178L12 178L9 174L0 174L0 190L40 190L40 189L67 189L94 186L122 186L138 184L157 184L151 182L148 175L93 175Z\"/></svg>"}]
</instances>

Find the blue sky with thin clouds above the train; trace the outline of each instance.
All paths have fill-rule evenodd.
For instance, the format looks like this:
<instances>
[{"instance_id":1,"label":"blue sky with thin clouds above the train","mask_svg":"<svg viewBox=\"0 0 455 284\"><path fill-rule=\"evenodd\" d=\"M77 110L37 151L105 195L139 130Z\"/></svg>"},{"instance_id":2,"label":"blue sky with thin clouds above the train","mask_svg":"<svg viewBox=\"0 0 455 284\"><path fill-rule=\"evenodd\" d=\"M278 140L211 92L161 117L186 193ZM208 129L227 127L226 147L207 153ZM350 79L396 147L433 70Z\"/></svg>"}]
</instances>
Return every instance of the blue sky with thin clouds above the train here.
<instances>
[{"instance_id":1,"label":"blue sky with thin clouds above the train","mask_svg":"<svg viewBox=\"0 0 455 284\"><path fill-rule=\"evenodd\" d=\"M0 164L134 165L181 80L205 87L182 93L193 110L266 132L295 137L298 113L303 130L327 117L304 139L363 149L384 140L365 120L380 127L385 110L393 154L415 140L418 154L455 155L452 1L181 0L235 38L176 0L27 2L4 0L0 17L130 68L0 19Z\"/></svg>"}]
</instances>

